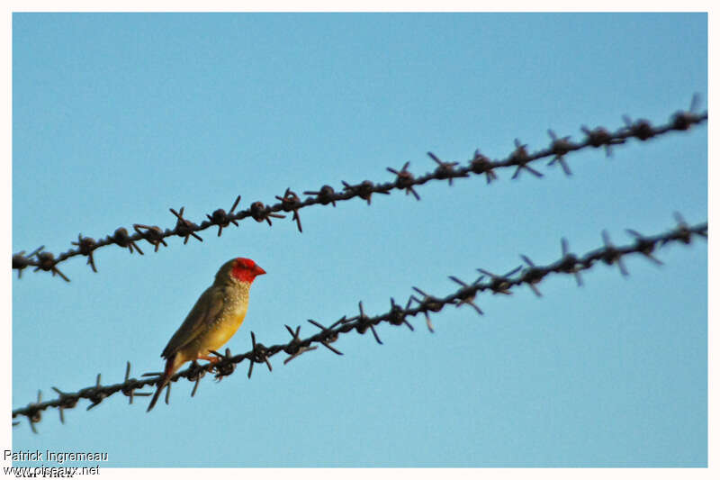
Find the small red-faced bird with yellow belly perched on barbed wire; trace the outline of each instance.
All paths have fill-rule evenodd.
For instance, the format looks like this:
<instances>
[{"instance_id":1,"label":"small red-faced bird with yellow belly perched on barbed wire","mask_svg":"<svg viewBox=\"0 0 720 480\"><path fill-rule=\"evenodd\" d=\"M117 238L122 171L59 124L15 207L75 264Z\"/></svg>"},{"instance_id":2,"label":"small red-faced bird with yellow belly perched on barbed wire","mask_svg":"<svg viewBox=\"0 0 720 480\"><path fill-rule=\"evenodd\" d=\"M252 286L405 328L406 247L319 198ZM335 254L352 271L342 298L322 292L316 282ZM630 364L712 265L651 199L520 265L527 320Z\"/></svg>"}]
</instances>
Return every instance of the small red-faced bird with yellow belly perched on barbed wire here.
<instances>
[{"instance_id":1,"label":"small red-faced bird with yellow belly perched on barbed wire","mask_svg":"<svg viewBox=\"0 0 720 480\"><path fill-rule=\"evenodd\" d=\"M256 276L265 273L249 258L233 258L220 267L213 284L200 295L161 354L166 358L165 372L157 383L148 412L185 362L196 359L218 361L217 357L210 357L210 350L219 350L238 331L247 313L250 285Z\"/></svg>"}]
</instances>

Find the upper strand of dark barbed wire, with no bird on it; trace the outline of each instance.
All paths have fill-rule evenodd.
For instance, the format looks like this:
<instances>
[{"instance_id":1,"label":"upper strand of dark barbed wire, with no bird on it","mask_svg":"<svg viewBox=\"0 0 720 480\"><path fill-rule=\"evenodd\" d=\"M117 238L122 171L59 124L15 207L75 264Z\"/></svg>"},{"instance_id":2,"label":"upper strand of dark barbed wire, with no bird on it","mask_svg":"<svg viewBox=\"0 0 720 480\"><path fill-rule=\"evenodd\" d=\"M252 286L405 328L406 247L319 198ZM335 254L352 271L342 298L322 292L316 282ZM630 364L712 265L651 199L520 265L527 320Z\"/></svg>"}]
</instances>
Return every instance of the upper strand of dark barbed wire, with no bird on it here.
<instances>
[{"instance_id":1,"label":"upper strand of dark barbed wire, with no bird on it","mask_svg":"<svg viewBox=\"0 0 720 480\"><path fill-rule=\"evenodd\" d=\"M174 208L170 208L170 213L175 216L175 227L172 229L165 229L163 231L156 225L135 223L132 226L135 233L130 234L127 229L120 227L115 230L112 235L107 235L101 240L94 240L91 237L83 236L82 233L78 233L77 241L71 242L76 248L60 253L57 257L52 252L45 251L44 246L35 249L29 255L25 255L25 250L14 253L13 269L17 270L18 277L20 277L22 276L24 268L35 267L33 270L35 272L50 272L53 276L58 275L69 282L69 278L59 270L58 264L69 258L83 255L87 257L87 265L89 265L94 272L97 272L93 256L94 251L108 245L117 245L122 249L128 249L130 253L137 251L140 255L143 255L144 252L138 245L140 240L146 240L157 252L161 245L167 247L165 239L168 237L180 237L184 239L184 244L186 244L191 237L202 241L200 235L197 234L198 231L204 231L213 226L217 226L218 236L220 236L222 230L229 227L230 224L237 227L239 226L238 222L248 218L252 218L256 222L267 222L269 226L272 226L272 219L285 218L285 215L280 212L293 213L292 221L296 222L298 231L302 232L302 223L298 211L311 205L331 204L332 206L336 206L337 202L356 197L365 200L367 204L371 204L372 195L389 195L390 192L395 189L404 190L406 195L412 194L419 200L420 195L415 190L417 186L434 180L447 180L448 185L452 186L455 178L465 178L473 175L484 175L486 182L490 184L491 181L498 178L495 170L499 168L515 168L512 178L517 178L523 170L527 170L527 172L535 177L543 177L542 173L530 165L532 162L536 162L542 158L552 157L547 165L553 166L557 163L563 168L563 172L569 176L572 175L572 172L565 156L572 152L590 147L603 147L606 150L606 155L609 156L613 146L624 144L626 140L630 138L641 141L650 140L670 131L687 131L694 125L707 122L707 111L704 113L695 112L698 107L698 99L698 95L693 96L689 110L672 114L670 122L657 127L653 127L648 120L639 119L633 121L629 117L624 116L623 120L626 125L620 127L615 132L610 132L604 127L589 129L583 125L581 131L584 133L585 139L580 142L572 142L570 136L558 137L554 131L548 130L548 134L552 140L550 145L532 154L527 152L527 145L522 144L520 140L517 139L515 140L516 148L507 158L491 160L484 156L479 149L476 149L473 153L473 158L464 166L461 166L457 161L450 162L441 160L434 153L428 152L428 156L437 164L437 168L419 177L416 177L410 172L408 169L410 162L406 162L399 170L391 167L387 168L387 170L396 177L392 182L374 183L370 180L365 180L353 185L343 181L342 191L336 191L332 186L325 185L320 187L319 190L304 191L303 195L310 195L305 200L301 200L299 195L290 188L287 188L284 195L275 195L275 198L279 200L277 204L266 205L258 201L250 204L247 209L240 210L236 213L235 209L238 207L241 198L240 195L238 195L228 212L225 212L222 208L218 208L211 214L205 214L207 220L200 223L186 219L184 217L184 207L180 208L179 212Z\"/></svg>"}]
</instances>

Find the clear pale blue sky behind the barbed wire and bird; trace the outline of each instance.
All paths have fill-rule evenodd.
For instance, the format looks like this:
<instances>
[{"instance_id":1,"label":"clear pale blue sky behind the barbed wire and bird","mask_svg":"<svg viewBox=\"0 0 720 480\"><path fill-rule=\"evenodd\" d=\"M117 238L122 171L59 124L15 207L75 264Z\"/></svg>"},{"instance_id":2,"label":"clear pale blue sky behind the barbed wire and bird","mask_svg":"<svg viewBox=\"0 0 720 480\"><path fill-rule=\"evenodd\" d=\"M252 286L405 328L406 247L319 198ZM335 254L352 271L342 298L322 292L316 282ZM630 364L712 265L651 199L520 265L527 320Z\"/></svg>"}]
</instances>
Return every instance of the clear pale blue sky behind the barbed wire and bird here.
<instances>
[{"instance_id":1,"label":"clear pale blue sky behind the barbed wire and bird","mask_svg":"<svg viewBox=\"0 0 720 480\"><path fill-rule=\"evenodd\" d=\"M175 225L169 207L205 213L275 203L341 181L422 174L426 152L505 158L547 129L615 131L621 116L667 122L707 99L705 14L14 14L13 251L56 254L78 232ZM229 341L289 340L284 324L330 324L404 303L417 285L455 291L476 267L504 273L707 220L707 127L588 149L545 177L500 170L422 197L375 195L252 220L203 242L171 238L145 256L106 247L99 272L73 258L67 284L26 270L13 280L14 408L38 389L76 391L158 371L160 352L220 265L267 271ZM44 413L13 448L106 451L103 466L706 466L707 244L672 245L665 263L628 258L552 276L512 296L422 317L415 331L351 333L273 372L247 362L198 393L173 385L146 413L113 395ZM148 389L148 391L150 391ZM24 419L23 419L24 420ZM28 465L28 464L23 464Z\"/></svg>"}]
</instances>

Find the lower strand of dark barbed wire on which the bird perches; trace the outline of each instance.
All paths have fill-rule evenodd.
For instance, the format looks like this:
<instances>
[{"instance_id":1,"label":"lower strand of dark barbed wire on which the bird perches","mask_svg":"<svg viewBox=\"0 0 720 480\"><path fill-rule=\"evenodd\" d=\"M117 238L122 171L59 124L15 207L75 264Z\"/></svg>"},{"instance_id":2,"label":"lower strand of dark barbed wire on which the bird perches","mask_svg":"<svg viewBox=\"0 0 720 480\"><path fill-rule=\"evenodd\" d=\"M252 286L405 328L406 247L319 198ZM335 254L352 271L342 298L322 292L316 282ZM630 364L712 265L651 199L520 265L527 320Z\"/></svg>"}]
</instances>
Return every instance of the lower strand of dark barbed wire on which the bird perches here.
<instances>
[{"instance_id":1,"label":"lower strand of dark barbed wire on which the bird perches","mask_svg":"<svg viewBox=\"0 0 720 480\"><path fill-rule=\"evenodd\" d=\"M590 269L598 262L603 262L607 265L617 265L620 273L623 276L628 275L627 268L623 261L623 258L631 254L641 254L645 258L651 260L654 264L662 264L662 262L653 256L655 249L663 247L671 242L680 242L689 245L694 236L700 236L707 239L707 222L699 223L695 226L689 226L687 222L680 216L679 213L675 213L677 225L671 231L667 231L662 234L655 236L645 236L634 230L626 230L628 234L633 236L635 239L634 243L616 247L610 241L608 232L602 231L603 247L599 249L591 250L582 257L578 257L571 253L568 242L564 238L561 240L562 257L546 266L536 266L533 261L525 255L520 255L523 259L525 267L515 267L505 275L497 275L491 273L485 269L478 268L478 271L482 274L472 282L464 282L456 276L449 276L450 280L459 285L455 292L447 294L444 297L434 296L427 294L420 290L419 287L413 286L412 289L419 294L410 294L410 297L404 307L400 303L395 303L393 298L390 299L391 308L389 311L369 317L365 314L363 303L358 304L359 313L355 316L348 317L344 315L338 321L332 323L329 327L324 326L320 322L315 320L308 320L313 326L320 329L318 333L311 335L305 339L300 338L301 327L298 326L293 330L288 325L285 328L290 333L292 340L284 344L273 345L266 347L256 339L255 332L250 332L250 338L252 341L252 349L246 353L232 356L229 349L225 349L225 353L213 351L219 359L214 364L199 365L193 361L190 367L184 369L181 372L175 374L172 377L172 381L167 385L166 391L166 403L169 403L170 385L176 382L180 378L187 378L193 381L193 391L191 396L194 396L197 391L198 385L202 377L208 373L214 373L216 379L221 380L225 376L230 376L235 372L236 366L243 360L249 360L250 365L247 370L247 377L252 376L253 367L255 364L265 364L267 368L272 372L273 367L270 363L270 358L280 352L284 352L288 355L284 359L284 364L287 364L293 358L297 358L307 351L318 349L320 345L329 349L337 355L343 355L341 351L333 347L331 344L338 340L339 335L349 333L350 331L356 331L360 334L365 334L366 331L372 331L374 340L379 344L383 344L380 339L378 332L375 327L382 322L388 322L395 326L405 325L410 331L414 331L414 327L409 322L409 317L414 317L422 313L425 316L426 324L429 331L434 331L433 324L430 320L431 312L440 312L447 305L455 304L456 307L464 305L470 305L473 307L475 312L484 314L481 308L475 303L475 297L477 294L491 292L492 294L511 294L510 290L519 285L528 285L532 291L541 296L542 294L537 288L537 285L541 283L546 276L555 273L563 275L575 276L577 285L582 285L581 271ZM488 277L488 280L485 278ZM417 303L412 306L413 303ZM143 376L151 376L151 378L145 378L138 380L136 378L130 378L130 362L127 362L125 369L124 381L120 384L115 385L101 385L101 376L97 375L95 384L93 386L86 387L74 393L66 393L53 386L52 389L58 394L58 398L42 402L41 392L38 392L38 399L36 402L29 403L26 407L18 408L13 411L13 418L18 416L26 417L29 422L32 431L37 432L35 429L35 423L41 420L42 412L46 409L53 407L58 408L60 421L65 422L64 410L75 408L77 402L80 399L88 399L90 404L87 406L87 410L90 410L102 403L103 400L112 394L121 392L122 394L129 397L129 403L133 403L133 399L136 396L145 396L149 393L136 392L137 389L143 388L148 385L157 385L157 382L162 375L161 372L153 372L144 374ZM19 422L14 421L14 425Z\"/></svg>"}]
</instances>

